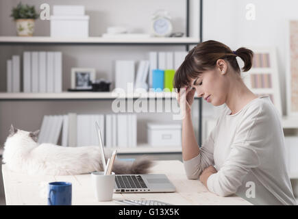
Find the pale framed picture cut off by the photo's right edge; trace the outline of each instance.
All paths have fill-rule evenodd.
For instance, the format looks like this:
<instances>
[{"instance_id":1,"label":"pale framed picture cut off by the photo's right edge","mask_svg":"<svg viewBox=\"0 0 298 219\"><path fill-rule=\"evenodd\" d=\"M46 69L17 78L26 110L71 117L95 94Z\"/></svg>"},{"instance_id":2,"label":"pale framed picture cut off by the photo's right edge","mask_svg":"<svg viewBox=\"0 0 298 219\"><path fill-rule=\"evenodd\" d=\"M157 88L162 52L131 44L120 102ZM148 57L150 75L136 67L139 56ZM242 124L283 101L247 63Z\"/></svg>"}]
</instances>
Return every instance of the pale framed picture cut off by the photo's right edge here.
<instances>
[{"instance_id":1,"label":"pale framed picture cut off by the photo's right edge","mask_svg":"<svg viewBox=\"0 0 298 219\"><path fill-rule=\"evenodd\" d=\"M298 116L298 21L288 21L286 101L288 116Z\"/></svg>"}]
</instances>

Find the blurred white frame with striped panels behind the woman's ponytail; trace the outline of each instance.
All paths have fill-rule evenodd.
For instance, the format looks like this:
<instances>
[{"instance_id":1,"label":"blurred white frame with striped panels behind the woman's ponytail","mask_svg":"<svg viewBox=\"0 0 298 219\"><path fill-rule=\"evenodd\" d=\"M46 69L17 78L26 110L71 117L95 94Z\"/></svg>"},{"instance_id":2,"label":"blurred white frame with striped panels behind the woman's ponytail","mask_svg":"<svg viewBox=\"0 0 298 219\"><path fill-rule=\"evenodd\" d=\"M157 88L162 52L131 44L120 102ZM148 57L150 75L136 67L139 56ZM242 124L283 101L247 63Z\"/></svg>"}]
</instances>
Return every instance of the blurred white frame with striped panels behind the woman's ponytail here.
<instances>
[{"instance_id":1,"label":"blurred white frame with striped panels behind the woman's ponytail","mask_svg":"<svg viewBox=\"0 0 298 219\"><path fill-rule=\"evenodd\" d=\"M247 47L253 51L253 66L242 73L246 86L258 96L268 95L282 117L280 79L275 47Z\"/></svg>"}]
</instances>

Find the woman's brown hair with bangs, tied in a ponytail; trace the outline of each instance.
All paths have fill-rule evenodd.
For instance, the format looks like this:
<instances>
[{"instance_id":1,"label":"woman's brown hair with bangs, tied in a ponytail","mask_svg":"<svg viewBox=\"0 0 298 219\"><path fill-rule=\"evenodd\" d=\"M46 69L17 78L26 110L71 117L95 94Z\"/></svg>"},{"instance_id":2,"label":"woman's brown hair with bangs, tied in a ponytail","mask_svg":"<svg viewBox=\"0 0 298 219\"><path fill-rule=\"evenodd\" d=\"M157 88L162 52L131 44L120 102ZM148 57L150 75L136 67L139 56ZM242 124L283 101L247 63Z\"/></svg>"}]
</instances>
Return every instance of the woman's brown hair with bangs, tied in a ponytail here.
<instances>
[{"instance_id":1,"label":"woman's brown hair with bangs, tied in a ponytail","mask_svg":"<svg viewBox=\"0 0 298 219\"><path fill-rule=\"evenodd\" d=\"M239 56L243 62L243 71L248 71L252 66L253 51L241 47L232 51L225 44L215 40L208 40L197 44L195 48L188 52L184 62L177 69L174 77L174 88L178 89L188 86L190 79L195 79L203 73L204 70L214 68L217 60L223 59L236 70L240 75L240 68L236 57Z\"/></svg>"}]
</instances>

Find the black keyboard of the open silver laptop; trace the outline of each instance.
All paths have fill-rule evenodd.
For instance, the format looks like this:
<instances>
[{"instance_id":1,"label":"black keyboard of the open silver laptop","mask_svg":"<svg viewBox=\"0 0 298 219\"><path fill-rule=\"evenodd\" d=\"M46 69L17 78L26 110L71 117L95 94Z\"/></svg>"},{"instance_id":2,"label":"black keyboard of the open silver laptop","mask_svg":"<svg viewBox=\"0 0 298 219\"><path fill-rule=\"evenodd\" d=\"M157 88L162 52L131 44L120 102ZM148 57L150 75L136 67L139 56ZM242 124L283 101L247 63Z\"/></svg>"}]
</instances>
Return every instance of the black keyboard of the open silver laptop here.
<instances>
[{"instance_id":1,"label":"black keyboard of the open silver laptop","mask_svg":"<svg viewBox=\"0 0 298 219\"><path fill-rule=\"evenodd\" d=\"M118 188L147 188L140 175L116 175L115 181Z\"/></svg>"}]
</instances>

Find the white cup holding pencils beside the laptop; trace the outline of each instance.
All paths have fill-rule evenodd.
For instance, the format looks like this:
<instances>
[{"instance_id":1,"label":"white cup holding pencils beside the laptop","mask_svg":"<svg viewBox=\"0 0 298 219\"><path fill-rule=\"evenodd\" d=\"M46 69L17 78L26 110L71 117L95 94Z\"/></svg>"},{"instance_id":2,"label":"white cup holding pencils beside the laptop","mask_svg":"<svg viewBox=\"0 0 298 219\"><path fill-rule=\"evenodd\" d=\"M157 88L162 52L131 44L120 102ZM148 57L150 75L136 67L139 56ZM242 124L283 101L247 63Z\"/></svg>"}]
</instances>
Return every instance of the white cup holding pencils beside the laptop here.
<instances>
[{"instance_id":1,"label":"white cup holding pencils beside the laptop","mask_svg":"<svg viewBox=\"0 0 298 219\"><path fill-rule=\"evenodd\" d=\"M104 172L91 172L91 178L97 201L112 201L115 173L104 175Z\"/></svg>"}]
</instances>

